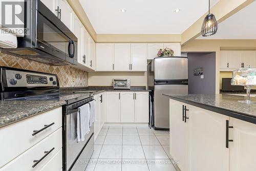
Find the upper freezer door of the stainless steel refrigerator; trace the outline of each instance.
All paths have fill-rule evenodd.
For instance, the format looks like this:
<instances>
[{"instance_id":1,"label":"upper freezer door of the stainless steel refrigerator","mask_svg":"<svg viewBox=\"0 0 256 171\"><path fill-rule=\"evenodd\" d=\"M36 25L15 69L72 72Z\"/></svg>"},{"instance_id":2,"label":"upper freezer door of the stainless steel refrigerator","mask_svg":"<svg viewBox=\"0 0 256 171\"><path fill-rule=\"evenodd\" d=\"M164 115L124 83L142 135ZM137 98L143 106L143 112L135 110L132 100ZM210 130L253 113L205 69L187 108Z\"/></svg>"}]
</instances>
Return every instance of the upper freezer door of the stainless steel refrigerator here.
<instances>
[{"instance_id":1,"label":"upper freezer door of the stainless steel refrigerator","mask_svg":"<svg viewBox=\"0 0 256 171\"><path fill-rule=\"evenodd\" d=\"M187 58L162 57L154 59L155 80L187 79Z\"/></svg>"}]
</instances>

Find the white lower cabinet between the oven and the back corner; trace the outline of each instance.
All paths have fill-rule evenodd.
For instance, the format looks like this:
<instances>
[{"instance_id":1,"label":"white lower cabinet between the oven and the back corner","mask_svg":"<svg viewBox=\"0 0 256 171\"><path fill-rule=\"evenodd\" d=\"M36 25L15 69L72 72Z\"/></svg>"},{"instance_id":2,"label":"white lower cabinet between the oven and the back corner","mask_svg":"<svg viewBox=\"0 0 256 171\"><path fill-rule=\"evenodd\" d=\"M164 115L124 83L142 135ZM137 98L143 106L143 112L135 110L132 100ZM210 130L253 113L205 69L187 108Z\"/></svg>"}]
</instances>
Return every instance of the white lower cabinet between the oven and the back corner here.
<instances>
[{"instance_id":1,"label":"white lower cabinet between the oven and the back corner","mask_svg":"<svg viewBox=\"0 0 256 171\"><path fill-rule=\"evenodd\" d=\"M97 138L105 122L105 92L94 96L96 100L96 121L94 122L94 139Z\"/></svg>"}]
</instances>

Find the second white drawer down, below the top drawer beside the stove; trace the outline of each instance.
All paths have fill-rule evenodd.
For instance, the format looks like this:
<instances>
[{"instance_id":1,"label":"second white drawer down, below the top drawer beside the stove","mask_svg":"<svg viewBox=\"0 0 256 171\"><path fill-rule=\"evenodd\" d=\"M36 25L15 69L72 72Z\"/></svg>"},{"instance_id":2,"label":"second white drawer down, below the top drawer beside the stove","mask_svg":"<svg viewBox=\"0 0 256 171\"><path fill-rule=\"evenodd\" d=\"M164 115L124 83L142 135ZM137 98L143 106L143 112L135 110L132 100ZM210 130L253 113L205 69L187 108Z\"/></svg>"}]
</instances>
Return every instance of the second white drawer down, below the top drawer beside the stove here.
<instances>
[{"instance_id":1,"label":"second white drawer down, below the top drawer beside the stove","mask_svg":"<svg viewBox=\"0 0 256 171\"><path fill-rule=\"evenodd\" d=\"M61 149L62 146L62 128L55 131L50 136L46 137L44 140L40 141L28 151L18 156L10 163L5 165L1 170L39 170L46 163L55 156L55 154ZM48 152L48 153L46 153ZM46 154L48 154L46 156ZM45 158L43 158L46 156ZM38 160L38 164L34 162ZM40 161L41 160L41 161Z\"/></svg>"}]
</instances>

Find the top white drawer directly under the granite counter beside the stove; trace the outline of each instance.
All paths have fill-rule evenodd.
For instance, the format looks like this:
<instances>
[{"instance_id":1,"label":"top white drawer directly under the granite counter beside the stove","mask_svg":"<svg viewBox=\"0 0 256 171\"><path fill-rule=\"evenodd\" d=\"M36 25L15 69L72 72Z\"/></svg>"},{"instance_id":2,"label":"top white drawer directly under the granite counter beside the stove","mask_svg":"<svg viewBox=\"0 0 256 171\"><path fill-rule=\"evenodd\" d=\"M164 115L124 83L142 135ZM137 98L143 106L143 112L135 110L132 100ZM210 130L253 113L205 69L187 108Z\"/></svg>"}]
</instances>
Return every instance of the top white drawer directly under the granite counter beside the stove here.
<instances>
[{"instance_id":1,"label":"top white drawer directly under the granite counter beside the stove","mask_svg":"<svg viewBox=\"0 0 256 171\"><path fill-rule=\"evenodd\" d=\"M0 152L5 154L0 160L0 168L59 129L62 126L61 117L62 108L59 107L0 129ZM41 129L44 130L37 134L33 132Z\"/></svg>"}]
</instances>

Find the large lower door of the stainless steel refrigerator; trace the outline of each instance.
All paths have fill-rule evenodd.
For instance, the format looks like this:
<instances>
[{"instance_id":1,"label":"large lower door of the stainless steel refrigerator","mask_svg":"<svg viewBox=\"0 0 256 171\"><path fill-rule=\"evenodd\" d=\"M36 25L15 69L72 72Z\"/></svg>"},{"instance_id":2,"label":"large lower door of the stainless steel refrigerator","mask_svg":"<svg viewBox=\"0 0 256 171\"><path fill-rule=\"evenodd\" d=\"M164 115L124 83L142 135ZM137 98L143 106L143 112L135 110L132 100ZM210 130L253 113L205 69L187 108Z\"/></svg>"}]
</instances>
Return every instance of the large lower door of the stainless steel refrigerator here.
<instances>
[{"instance_id":1,"label":"large lower door of the stainless steel refrigerator","mask_svg":"<svg viewBox=\"0 0 256 171\"><path fill-rule=\"evenodd\" d=\"M187 85L164 84L154 90L154 126L169 129L169 97L163 94L188 94Z\"/></svg>"}]
</instances>

